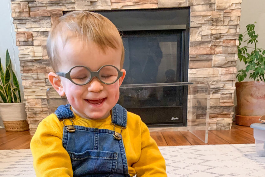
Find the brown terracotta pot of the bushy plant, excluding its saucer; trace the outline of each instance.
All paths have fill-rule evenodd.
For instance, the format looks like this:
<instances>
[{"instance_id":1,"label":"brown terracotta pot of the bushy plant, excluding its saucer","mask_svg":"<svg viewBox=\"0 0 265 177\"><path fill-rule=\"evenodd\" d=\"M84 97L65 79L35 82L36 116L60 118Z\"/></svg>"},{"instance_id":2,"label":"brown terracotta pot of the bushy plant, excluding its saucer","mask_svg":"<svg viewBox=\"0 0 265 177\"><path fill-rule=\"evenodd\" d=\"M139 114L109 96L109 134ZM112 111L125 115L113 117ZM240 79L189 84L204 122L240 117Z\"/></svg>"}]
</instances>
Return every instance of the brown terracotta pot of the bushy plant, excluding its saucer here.
<instances>
[{"instance_id":1,"label":"brown terracotta pot of the bushy plant, excluding its saucer","mask_svg":"<svg viewBox=\"0 0 265 177\"><path fill-rule=\"evenodd\" d=\"M265 82L236 82L238 115L265 115Z\"/></svg>"}]
</instances>

